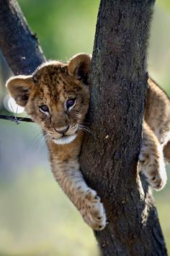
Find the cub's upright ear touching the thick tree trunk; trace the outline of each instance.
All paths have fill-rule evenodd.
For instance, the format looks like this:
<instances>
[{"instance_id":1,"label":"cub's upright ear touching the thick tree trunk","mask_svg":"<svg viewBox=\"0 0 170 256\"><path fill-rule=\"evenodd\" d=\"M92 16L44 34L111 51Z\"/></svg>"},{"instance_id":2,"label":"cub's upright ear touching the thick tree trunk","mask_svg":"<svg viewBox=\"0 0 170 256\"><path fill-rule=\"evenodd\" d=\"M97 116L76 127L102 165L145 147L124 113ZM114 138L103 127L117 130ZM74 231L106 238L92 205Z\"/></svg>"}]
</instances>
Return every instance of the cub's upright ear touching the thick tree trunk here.
<instances>
[{"instance_id":1,"label":"cub's upright ear touching the thick tree trunk","mask_svg":"<svg viewBox=\"0 0 170 256\"><path fill-rule=\"evenodd\" d=\"M91 69L91 56L77 54L68 62L68 74L75 76L77 80L89 84L89 72Z\"/></svg>"}]
</instances>

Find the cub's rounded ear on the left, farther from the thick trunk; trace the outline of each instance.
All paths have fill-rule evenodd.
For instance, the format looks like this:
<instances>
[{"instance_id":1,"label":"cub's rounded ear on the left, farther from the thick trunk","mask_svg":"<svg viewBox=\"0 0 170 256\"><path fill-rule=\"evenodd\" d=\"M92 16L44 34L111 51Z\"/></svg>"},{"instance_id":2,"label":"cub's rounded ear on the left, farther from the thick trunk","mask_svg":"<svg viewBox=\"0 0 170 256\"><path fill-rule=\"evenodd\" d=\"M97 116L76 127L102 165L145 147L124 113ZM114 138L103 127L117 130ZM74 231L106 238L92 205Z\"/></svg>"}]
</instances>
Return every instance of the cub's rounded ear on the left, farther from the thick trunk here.
<instances>
[{"instance_id":1,"label":"cub's rounded ear on the left, farther from the thick trunk","mask_svg":"<svg viewBox=\"0 0 170 256\"><path fill-rule=\"evenodd\" d=\"M35 83L32 80L32 75L17 75L16 77L9 78L6 82L9 93L19 106L27 104L30 91L34 86Z\"/></svg>"}]
</instances>

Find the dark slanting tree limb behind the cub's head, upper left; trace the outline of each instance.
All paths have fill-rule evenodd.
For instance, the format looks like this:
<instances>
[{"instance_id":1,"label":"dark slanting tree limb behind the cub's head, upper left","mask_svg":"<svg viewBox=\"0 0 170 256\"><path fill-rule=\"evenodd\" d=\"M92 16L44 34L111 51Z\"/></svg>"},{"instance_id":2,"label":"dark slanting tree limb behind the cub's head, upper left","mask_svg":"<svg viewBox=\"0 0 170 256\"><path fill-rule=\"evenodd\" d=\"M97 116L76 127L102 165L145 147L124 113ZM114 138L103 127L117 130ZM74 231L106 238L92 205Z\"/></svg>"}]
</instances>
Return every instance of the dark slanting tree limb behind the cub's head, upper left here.
<instances>
[{"instance_id":1,"label":"dark slanting tree limb behind the cub's head, upper left","mask_svg":"<svg viewBox=\"0 0 170 256\"><path fill-rule=\"evenodd\" d=\"M0 35L2 54L14 74L30 74L45 61L16 0L0 0Z\"/></svg>"}]
</instances>

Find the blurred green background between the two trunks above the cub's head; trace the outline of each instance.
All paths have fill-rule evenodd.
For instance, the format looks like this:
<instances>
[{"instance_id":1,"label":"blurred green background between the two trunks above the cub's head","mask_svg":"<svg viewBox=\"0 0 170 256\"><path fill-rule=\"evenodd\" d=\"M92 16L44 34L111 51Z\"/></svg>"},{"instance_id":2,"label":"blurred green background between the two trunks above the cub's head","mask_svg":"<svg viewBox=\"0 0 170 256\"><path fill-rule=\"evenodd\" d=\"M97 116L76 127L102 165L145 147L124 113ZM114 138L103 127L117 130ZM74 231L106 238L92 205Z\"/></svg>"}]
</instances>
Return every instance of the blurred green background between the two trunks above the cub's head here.
<instances>
[{"instance_id":1,"label":"blurred green background between the two trunks above the cub's head","mask_svg":"<svg viewBox=\"0 0 170 256\"><path fill-rule=\"evenodd\" d=\"M99 0L19 0L45 56L66 59L92 52Z\"/></svg>"}]
</instances>

